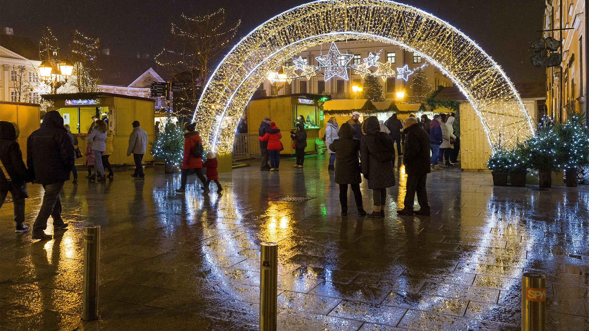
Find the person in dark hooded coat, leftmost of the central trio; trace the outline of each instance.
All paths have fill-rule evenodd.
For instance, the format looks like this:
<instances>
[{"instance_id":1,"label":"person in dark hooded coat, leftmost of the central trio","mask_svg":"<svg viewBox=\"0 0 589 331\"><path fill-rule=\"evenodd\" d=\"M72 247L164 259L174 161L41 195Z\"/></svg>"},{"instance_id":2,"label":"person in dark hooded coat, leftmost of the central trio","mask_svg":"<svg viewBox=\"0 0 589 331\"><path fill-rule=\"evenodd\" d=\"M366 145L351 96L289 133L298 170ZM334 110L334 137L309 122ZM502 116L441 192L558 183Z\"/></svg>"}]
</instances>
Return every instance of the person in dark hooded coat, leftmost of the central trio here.
<instances>
[{"instance_id":1,"label":"person in dark hooded coat, leftmost of the central trio","mask_svg":"<svg viewBox=\"0 0 589 331\"><path fill-rule=\"evenodd\" d=\"M366 215L362 206L362 192L360 191L360 141L354 139L356 130L349 123L342 124L337 135L339 138L329 144L329 150L335 157L335 183L339 184L339 203L342 206L342 215L348 215L348 185L352 188L356 208L359 215Z\"/></svg>"}]
</instances>

